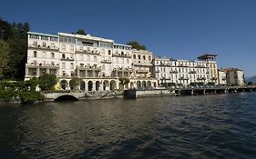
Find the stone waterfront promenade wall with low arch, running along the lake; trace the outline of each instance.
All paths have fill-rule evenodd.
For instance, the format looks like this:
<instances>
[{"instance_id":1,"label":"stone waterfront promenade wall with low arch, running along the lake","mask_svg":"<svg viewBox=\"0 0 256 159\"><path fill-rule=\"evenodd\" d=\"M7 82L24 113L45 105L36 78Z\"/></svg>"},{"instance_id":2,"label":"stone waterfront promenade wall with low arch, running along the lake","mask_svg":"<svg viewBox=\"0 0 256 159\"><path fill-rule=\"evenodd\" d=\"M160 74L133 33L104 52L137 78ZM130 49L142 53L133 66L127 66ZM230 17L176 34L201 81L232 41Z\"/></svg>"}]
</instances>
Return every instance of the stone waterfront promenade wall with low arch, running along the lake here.
<instances>
[{"instance_id":1,"label":"stone waterfront promenade wall with low arch, running along the lake","mask_svg":"<svg viewBox=\"0 0 256 159\"><path fill-rule=\"evenodd\" d=\"M256 86L212 86L212 87L186 87L186 88L145 88L115 91L79 91L79 92L53 92L45 93L46 101L62 100L90 100L109 98L137 98L144 96L166 96L166 95L198 95L198 94L226 94L240 92L255 92Z\"/></svg>"}]
</instances>

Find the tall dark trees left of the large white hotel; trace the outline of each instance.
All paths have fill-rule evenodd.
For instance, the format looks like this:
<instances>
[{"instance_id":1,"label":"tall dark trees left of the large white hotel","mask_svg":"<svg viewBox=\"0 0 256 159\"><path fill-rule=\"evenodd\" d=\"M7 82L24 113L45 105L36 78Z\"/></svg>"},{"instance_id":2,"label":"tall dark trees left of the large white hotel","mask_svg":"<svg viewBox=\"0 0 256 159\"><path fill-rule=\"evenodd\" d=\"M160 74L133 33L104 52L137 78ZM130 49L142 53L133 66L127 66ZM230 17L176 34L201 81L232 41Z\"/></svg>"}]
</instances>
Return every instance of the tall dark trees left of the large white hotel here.
<instances>
[{"instance_id":1,"label":"tall dark trees left of the large white hotel","mask_svg":"<svg viewBox=\"0 0 256 159\"><path fill-rule=\"evenodd\" d=\"M0 18L0 39L9 45L8 67L5 69L5 79L24 79L27 55L27 23L9 24Z\"/></svg>"}]
</instances>

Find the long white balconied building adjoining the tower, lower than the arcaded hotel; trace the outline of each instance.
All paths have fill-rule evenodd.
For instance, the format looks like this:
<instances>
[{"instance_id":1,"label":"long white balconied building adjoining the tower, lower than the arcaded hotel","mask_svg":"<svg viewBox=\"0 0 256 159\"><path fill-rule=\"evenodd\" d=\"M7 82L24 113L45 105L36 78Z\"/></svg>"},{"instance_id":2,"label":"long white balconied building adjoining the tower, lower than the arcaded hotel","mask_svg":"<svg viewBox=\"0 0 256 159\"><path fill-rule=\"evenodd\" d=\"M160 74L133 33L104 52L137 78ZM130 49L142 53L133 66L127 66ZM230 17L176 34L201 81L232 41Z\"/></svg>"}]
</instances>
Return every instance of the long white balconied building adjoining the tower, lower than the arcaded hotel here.
<instances>
[{"instance_id":1,"label":"long white balconied building adjoining the tower, lower than the arcaded hotel","mask_svg":"<svg viewBox=\"0 0 256 159\"><path fill-rule=\"evenodd\" d=\"M206 61L173 60L169 58L153 59L153 75L159 85L209 82L209 68Z\"/></svg>"}]
</instances>

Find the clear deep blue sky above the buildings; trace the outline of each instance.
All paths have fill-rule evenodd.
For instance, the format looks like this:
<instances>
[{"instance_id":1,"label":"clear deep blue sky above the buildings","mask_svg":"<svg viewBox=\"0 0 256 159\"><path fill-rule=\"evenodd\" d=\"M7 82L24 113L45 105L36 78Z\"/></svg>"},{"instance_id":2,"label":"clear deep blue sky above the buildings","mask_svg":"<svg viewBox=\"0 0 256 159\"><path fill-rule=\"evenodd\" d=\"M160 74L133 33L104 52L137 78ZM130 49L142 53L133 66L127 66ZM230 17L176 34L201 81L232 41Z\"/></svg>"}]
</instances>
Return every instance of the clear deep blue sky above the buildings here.
<instances>
[{"instance_id":1,"label":"clear deep blue sky above the buildings","mask_svg":"<svg viewBox=\"0 0 256 159\"><path fill-rule=\"evenodd\" d=\"M137 40L154 55L193 60L218 55L219 67L256 75L255 0L1 0L0 16L31 31Z\"/></svg>"}]
</instances>

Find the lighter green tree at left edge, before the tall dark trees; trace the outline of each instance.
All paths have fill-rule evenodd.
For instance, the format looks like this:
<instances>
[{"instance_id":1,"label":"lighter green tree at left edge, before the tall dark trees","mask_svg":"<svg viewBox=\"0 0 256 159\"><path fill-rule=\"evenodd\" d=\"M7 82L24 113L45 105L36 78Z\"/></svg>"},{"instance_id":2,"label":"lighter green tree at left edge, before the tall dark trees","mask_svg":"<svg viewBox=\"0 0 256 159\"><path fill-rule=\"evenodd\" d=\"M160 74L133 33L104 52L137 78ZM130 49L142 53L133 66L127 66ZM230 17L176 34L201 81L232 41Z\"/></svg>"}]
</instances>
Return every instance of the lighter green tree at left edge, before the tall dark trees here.
<instances>
[{"instance_id":1,"label":"lighter green tree at left edge, before the tall dark trees","mask_svg":"<svg viewBox=\"0 0 256 159\"><path fill-rule=\"evenodd\" d=\"M0 80L4 78L5 71L8 69L8 55L10 54L10 46L0 40Z\"/></svg>"}]
</instances>

